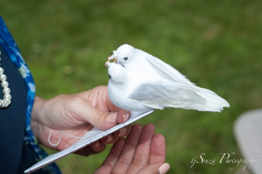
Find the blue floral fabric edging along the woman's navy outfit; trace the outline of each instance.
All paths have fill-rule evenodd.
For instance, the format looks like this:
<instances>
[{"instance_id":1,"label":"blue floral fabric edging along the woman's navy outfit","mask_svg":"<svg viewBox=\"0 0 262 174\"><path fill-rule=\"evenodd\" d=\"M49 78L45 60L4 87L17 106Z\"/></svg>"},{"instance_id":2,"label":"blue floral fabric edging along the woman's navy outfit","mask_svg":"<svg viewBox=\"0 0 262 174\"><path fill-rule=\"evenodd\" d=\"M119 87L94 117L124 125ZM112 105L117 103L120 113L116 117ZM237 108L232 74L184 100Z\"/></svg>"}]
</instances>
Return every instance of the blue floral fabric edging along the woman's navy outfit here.
<instances>
[{"instance_id":1,"label":"blue floral fabric edging along the woman's navy outfit","mask_svg":"<svg viewBox=\"0 0 262 174\"><path fill-rule=\"evenodd\" d=\"M35 98L35 84L33 77L28 69L23 57L18 49L18 46L14 42L10 32L8 31L2 17L0 16L0 44L2 48L6 51L6 54L10 60L17 67L21 73L27 87L27 110L26 110L26 129L25 129L25 144L31 150L36 162L42 160L47 156L47 153L39 147L38 141L31 131L31 111ZM59 168L55 163L49 164L47 167L43 168L46 173L61 173Z\"/></svg>"}]
</instances>

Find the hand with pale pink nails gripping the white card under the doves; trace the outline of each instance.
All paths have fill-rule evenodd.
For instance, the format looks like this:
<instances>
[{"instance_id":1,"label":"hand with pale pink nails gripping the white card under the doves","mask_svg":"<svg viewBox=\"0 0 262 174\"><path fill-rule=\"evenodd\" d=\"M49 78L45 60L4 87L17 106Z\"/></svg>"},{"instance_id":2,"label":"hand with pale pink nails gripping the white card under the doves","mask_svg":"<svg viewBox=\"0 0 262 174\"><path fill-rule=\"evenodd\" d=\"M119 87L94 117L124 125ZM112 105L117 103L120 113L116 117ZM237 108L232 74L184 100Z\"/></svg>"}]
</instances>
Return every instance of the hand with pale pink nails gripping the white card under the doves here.
<instances>
[{"instance_id":1,"label":"hand with pale pink nails gripping the white card under the doves","mask_svg":"<svg viewBox=\"0 0 262 174\"><path fill-rule=\"evenodd\" d=\"M109 113L112 111L113 113ZM106 86L70 95L59 95L49 100L36 97L31 116L31 128L35 137L48 148L63 150L78 139L61 135L60 143L52 146L48 136L52 131L50 142L56 144L60 132L72 136L84 136L94 126L107 130L128 120L130 112L120 109L109 100ZM120 129L113 135L81 149L77 153L88 156L100 152L105 144L115 143L119 137L127 135L131 125Z\"/></svg>"}]
</instances>

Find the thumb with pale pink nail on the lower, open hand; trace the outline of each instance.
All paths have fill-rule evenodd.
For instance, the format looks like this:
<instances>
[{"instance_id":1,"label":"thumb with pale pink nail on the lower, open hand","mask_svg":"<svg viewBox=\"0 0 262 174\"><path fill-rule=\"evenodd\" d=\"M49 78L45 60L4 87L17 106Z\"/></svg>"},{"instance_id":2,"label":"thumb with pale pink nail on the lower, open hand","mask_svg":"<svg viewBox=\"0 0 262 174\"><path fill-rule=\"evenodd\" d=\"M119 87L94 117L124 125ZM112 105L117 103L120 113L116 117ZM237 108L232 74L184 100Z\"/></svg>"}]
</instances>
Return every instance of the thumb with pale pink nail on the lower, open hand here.
<instances>
[{"instance_id":1,"label":"thumb with pale pink nail on the lower, open hand","mask_svg":"<svg viewBox=\"0 0 262 174\"><path fill-rule=\"evenodd\" d=\"M165 174L169 169L168 163L157 162L141 168L137 174Z\"/></svg>"}]
</instances>

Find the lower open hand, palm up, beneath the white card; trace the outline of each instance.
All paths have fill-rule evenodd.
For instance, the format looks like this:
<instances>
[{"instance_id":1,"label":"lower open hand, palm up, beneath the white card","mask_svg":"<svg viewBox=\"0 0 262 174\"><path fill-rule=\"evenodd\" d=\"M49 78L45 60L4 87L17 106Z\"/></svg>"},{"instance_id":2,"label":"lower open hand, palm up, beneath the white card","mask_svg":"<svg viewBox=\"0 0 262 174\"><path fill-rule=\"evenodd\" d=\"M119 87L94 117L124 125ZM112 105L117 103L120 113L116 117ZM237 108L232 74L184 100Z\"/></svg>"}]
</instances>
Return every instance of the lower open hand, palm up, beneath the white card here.
<instances>
[{"instance_id":1,"label":"lower open hand, palm up, beneath the white card","mask_svg":"<svg viewBox=\"0 0 262 174\"><path fill-rule=\"evenodd\" d=\"M139 173L163 174L170 166L165 163L166 143L162 134L155 134L152 124L134 125L127 139L119 139L95 174Z\"/></svg>"}]
</instances>

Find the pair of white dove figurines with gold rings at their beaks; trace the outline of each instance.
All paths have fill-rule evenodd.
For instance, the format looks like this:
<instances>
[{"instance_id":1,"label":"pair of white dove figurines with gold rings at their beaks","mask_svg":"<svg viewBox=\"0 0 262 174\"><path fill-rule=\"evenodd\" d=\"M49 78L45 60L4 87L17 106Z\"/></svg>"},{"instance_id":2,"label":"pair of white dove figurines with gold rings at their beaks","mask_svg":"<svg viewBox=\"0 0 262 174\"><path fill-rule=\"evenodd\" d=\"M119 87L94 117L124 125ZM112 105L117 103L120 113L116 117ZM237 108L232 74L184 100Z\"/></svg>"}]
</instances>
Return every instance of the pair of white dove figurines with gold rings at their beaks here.
<instances>
[{"instance_id":1,"label":"pair of white dove figurines with gold rings at their beaks","mask_svg":"<svg viewBox=\"0 0 262 174\"><path fill-rule=\"evenodd\" d=\"M196 86L172 66L128 44L113 51L105 67L110 77L109 98L122 109L149 111L174 107L220 112L229 107L213 91Z\"/></svg>"}]
</instances>

